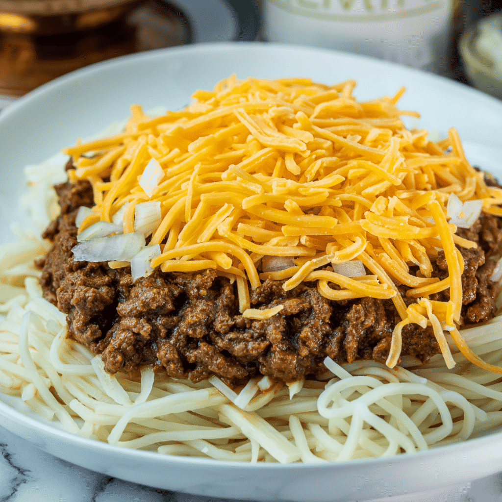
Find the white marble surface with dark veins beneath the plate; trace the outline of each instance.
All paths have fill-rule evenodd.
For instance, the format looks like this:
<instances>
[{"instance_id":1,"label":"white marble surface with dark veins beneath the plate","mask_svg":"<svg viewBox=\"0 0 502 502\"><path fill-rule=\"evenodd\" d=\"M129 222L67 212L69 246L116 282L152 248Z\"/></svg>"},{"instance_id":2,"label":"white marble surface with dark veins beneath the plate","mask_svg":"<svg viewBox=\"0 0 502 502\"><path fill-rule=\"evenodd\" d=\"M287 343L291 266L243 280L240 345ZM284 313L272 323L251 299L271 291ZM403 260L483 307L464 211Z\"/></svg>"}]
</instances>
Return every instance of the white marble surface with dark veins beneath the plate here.
<instances>
[{"instance_id":1,"label":"white marble surface with dark veins beneath the plate","mask_svg":"<svg viewBox=\"0 0 502 502\"><path fill-rule=\"evenodd\" d=\"M53 457L0 427L0 502L68 501L228 502L228 499L157 490L98 474ZM502 502L502 473L434 492L371 502Z\"/></svg>"}]
</instances>

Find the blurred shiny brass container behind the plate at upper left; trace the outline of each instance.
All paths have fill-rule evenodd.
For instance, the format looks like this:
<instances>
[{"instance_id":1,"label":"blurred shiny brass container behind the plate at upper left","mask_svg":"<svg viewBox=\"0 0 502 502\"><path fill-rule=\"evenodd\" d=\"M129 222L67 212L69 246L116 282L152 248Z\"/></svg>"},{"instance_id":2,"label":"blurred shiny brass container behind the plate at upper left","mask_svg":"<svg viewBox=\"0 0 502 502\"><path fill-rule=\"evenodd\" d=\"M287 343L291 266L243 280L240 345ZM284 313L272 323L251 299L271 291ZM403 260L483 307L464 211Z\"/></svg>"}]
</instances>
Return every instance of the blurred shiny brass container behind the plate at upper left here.
<instances>
[{"instance_id":1,"label":"blurred shiny brass container behind the plate at upper left","mask_svg":"<svg viewBox=\"0 0 502 502\"><path fill-rule=\"evenodd\" d=\"M0 94L135 51L141 0L0 0Z\"/></svg>"}]
</instances>

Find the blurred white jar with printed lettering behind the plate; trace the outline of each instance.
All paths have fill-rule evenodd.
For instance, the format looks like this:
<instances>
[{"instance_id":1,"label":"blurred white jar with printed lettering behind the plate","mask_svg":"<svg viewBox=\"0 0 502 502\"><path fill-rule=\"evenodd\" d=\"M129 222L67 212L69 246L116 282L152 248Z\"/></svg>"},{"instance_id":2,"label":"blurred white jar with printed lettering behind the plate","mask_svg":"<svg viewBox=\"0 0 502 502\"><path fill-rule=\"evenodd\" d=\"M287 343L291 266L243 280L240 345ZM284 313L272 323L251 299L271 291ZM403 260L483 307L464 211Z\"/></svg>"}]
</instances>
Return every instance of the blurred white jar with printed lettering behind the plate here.
<instances>
[{"instance_id":1,"label":"blurred white jar with printed lettering behind the plate","mask_svg":"<svg viewBox=\"0 0 502 502\"><path fill-rule=\"evenodd\" d=\"M265 0L265 37L446 73L451 0Z\"/></svg>"}]
</instances>

